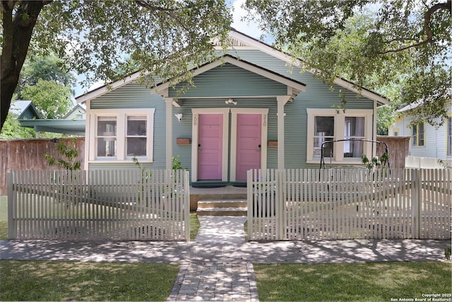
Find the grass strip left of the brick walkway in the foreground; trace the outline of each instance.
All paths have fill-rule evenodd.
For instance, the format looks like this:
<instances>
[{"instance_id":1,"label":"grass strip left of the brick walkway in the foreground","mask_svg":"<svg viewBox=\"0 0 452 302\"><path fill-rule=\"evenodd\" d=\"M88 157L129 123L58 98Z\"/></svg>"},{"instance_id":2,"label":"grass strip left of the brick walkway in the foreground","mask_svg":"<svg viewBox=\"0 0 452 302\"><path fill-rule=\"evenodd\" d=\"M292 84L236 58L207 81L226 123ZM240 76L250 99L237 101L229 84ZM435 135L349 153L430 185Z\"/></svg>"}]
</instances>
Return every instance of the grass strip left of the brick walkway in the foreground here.
<instances>
[{"instance_id":1,"label":"grass strip left of the brick walkway in the foreground","mask_svg":"<svg viewBox=\"0 0 452 302\"><path fill-rule=\"evenodd\" d=\"M165 301L179 265L0 260L0 301Z\"/></svg>"}]
</instances>

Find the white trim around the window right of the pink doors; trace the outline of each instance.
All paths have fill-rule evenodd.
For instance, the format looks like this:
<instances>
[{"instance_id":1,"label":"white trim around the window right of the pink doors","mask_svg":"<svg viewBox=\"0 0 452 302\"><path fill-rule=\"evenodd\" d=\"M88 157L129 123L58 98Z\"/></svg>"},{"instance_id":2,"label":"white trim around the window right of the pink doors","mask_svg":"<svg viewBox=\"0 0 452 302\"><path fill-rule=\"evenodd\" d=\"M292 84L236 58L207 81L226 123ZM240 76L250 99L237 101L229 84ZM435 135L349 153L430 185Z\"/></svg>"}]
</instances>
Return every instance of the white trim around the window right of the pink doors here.
<instances>
[{"instance_id":1,"label":"white trim around the window right of the pink doors","mask_svg":"<svg viewBox=\"0 0 452 302\"><path fill-rule=\"evenodd\" d=\"M307 108L307 151L306 162L307 163L320 163L320 158L314 158L314 120L316 116L334 117L334 139L344 139L345 129L345 117L364 117L364 138L372 139L372 114L371 109L347 109L345 113L343 111L337 112L335 109L316 109ZM340 129L338 131L337 129ZM343 142L335 143L333 158L331 163L333 164L359 164L361 158L344 158L344 144ZM364 153L368 156L371 154L371 143L364 142ZM328 163L330 158L328 158Z\"/></svg>"}]
</instances>

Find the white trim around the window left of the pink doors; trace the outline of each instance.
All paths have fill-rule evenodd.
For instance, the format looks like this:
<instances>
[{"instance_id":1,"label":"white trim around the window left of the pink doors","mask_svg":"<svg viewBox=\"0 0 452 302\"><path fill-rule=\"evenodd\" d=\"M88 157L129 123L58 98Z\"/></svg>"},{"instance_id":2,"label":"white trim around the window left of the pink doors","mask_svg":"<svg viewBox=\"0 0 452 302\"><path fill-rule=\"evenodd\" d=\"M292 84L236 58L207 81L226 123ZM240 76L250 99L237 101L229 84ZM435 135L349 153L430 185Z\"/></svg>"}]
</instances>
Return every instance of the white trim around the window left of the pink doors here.
<instances>
[{"instance_id":1,"label":"white trim around the window left of the pink doors","mask_svg":"<svg viewBox=\"0 0 452 302\"><path fill-rule=\"evenodd\" d=\"M126 123L131 115L146 116L146 156L136 156L143 163L153 162L154 150L154 114L155 108L148 109L93 109L87 112L87 120L90 121L88 161L95 163L124 162L130 163L133 156L126 156ZM112 158L97 157L97 117L117 118L117 156Z\"/></svg>"}]
</instances>

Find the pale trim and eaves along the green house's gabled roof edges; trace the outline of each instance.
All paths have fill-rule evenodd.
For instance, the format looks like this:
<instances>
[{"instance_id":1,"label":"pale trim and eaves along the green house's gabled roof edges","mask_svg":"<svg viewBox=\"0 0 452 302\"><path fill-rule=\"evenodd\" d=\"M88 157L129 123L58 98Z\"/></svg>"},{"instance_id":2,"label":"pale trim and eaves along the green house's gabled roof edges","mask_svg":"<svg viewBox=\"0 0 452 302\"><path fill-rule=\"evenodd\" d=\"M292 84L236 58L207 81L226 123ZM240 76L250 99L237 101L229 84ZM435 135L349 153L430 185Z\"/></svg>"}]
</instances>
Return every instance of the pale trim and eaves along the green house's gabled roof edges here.
<instances>
[{"instance_id":1,"label":"pale trim and eaves along the green house's gabled roof edges","mask_svg":"<svg viewBox=\"0 0 452 302\"><path fill-rule=\"evenodd\" d=\"M276 50L274 47L271 47L270 45L267 45L266 43L256 40L254 37L250 37L249 35L245 35L244 33L240 33L237 30L231 29L230 32L231 37L231 47L233 49L254 49L254 50L260 50L261 52L264 52L266 54L269 54L270 56L273 56L275 58L278 58L282 60L283 62L286 62L287 64L294 65L297 67L302 67L302 61L299 59L295 59L294 57L291 57L288 54L285 54L284 52L280 52L279 50ZM268 77L268 79L273 79L275 81L278 81L280 83L285 83L288 87L295 88L290 93L292 97L296 94L298 94L300 91L304 91L304 83L295 81L293 79L287 78L286 76L283 76L281 74L276 74L273 71L270 71L268 69L264 69L261 66L257 66L255 64L251 64L250 62L246 62L243 60L239 60L236 57L231 56L230 54L225 54L219 59L206 63L202 66L198 66L195 69L192 69L194 71L194 76L197 74L201 74L205 71L208 71L210 69L215 68L216 66L220 66L222 62L227 62L234 64L236 66L239 66L241 68L244 68L246 70L255 72L256 74L261 74L262 76ZM314 71L310 71L311 73L314 73ZM272 75L273 74L273 75ZM107 93L108 91L114 90L116 88L119 88L121 86L126 85L127 83L131 83L133 81L136 81L138 78L140 78L143 75L141 71L137 71L130 76L126 76L126 78L115 81L113 83L110 83L108 86L100 86L99 88L94 89L93 91L88 91L88 93L84 93L83 95L79 95L76 97L77 103L85 103L88 100L91 100L93 98L97 98L100 95L103 95ZM369 98L370 100L374 100L377 102L378 105L387 105L389 101L384 98L382 95L379 95L378 93L375 93L373 91L369 91L365 88L362 88L360 91L358 88L355 87L355 84L347 81L345 79L336 79L335 84L338 86L341 86L343 88L346 88L349 91L352 91L354 93L359 93L363 95L366 98ZM174 81L171 82L165 82L165 83L158 83L156 85L157 91L159 93L162 93L165 91L165 89L169 88L169 86L174 85Z\"/></svg>"}]
</instances>

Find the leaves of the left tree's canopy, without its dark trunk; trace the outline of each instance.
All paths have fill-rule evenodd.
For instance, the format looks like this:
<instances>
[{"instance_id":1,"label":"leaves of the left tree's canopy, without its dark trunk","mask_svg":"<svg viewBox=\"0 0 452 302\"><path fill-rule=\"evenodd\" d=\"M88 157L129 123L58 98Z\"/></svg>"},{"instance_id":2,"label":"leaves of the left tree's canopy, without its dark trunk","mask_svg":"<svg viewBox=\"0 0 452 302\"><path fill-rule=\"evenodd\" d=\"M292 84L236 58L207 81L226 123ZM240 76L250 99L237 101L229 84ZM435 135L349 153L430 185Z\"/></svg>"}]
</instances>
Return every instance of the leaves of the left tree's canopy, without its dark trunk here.
<instances>
[{"instance_id":1,"label":"leaves of the left tree's canopy, without its dark trunk","mask_svg":"<svg viewBox=\"0 0 452 302\"><path fill-rule=\"evenodd\" d=\"M42 11L35 37L90 81L136 68L163 79L211 56L210 40L226 40L230 19L224 1L58 1Z\"/></svg>"}]
</instances>

